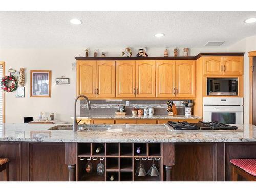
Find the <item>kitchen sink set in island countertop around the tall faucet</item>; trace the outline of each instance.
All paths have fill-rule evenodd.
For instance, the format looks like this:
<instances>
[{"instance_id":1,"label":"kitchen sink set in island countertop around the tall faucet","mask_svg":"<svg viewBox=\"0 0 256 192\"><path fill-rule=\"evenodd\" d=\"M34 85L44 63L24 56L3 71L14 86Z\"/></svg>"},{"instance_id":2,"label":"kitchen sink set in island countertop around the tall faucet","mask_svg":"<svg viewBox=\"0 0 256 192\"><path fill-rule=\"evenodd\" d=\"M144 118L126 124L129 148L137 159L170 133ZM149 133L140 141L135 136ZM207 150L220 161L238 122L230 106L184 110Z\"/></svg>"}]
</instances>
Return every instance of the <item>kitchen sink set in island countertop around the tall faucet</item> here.
<instances>
[{"instance_id":1,"label":"kitchen sink set in island countertop around the tall faucet","mask_svg":"<svg viewBox=\"0 0 256 192\"><path fill-rule=\"evenodd\" d=\"M110 125L94 125L94 124L82 124L78 125L78 131L107 131L110 130ZM48 130L72 130L72 125L57 125L51 127Z\"/></svg>"}]
</instances>

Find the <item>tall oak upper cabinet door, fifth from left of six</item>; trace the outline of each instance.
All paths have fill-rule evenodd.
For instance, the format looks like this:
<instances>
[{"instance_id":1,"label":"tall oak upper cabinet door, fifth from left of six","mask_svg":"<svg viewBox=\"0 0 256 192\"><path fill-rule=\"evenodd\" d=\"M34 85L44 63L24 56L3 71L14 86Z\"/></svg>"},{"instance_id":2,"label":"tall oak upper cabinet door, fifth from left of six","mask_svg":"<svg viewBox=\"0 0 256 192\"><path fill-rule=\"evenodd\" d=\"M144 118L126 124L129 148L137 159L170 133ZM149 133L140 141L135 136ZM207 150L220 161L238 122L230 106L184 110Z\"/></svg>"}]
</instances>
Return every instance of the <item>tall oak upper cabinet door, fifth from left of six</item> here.
<instances>
[{"instance_id":1,"label":"tall oak upper cabinet door, fifth from left of six","mask_svg":"<svg viewBox=\"0 0 256 192\"><path fill-rule=\"evenodd\" d=\"M156 61L156 96L175 97L175 60Z\"/></svg>"}]
</instances>

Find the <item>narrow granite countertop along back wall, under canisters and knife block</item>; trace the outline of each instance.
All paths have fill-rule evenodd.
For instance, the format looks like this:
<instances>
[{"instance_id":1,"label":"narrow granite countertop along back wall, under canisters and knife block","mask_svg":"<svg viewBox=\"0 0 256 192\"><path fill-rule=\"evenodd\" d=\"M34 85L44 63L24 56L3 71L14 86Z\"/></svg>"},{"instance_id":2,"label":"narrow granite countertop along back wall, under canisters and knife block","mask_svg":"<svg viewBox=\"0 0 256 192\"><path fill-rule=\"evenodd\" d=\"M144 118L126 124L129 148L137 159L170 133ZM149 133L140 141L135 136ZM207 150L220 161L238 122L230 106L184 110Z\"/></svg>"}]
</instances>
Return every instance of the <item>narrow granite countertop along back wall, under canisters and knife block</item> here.
<instances>
[{"instance_id":1,"label":"narrow granite countertop along back wall, under canisters and knife block","mask_svg":"<svg viewBox=\"0 0 256 192\"><path fill-rule=\"evenodd\" d=\"M73 117L71 117L73 119ZM202 119L201 117L192 115L89 115L85 117L77 117L77 119Z\"/></svg>"}]
</instances>

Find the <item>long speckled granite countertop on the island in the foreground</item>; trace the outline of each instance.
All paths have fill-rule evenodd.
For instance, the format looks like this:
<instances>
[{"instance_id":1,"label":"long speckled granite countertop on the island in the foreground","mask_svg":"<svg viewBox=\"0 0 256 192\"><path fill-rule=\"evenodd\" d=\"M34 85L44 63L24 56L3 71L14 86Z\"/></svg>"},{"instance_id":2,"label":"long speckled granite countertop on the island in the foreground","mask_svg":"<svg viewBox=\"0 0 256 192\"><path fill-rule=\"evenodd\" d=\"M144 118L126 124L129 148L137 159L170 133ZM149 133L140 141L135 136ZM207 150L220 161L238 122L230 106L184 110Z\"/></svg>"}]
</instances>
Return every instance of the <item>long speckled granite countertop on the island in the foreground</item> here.
<instances>
[{"instance_id":1,"label":"long speckled granite countertop on the island in the foreground","mask_svg":"<svg viewBox=\"0 0 256 192\"><path fill-rule=\"evenodd\" d=\"M57 125L69 126L70 124ZM0 141L26 142L256 142L256 126L237 131L172 132L160 124L114 124L109 131L48 130L54 124L0 124ZM85 125L84 125L85 126Z\"/></svg>"}]
</instances>

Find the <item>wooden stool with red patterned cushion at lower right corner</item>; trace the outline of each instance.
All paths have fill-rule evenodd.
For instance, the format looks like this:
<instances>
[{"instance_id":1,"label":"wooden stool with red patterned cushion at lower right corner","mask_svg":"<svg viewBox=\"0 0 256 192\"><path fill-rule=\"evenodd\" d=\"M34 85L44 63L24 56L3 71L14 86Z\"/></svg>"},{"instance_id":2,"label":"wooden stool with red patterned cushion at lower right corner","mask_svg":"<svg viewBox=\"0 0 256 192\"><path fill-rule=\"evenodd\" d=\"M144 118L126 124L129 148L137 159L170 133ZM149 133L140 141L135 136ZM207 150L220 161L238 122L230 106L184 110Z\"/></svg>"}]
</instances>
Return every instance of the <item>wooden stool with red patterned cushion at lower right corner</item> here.
<instances>
[{"instance_id":1,"label":"wooden stool with red patterned cushion at lower right corner","mask_svg":"<svg viewBox=\"0 0 256 192\"><path fill-rule=\"evenodd\" d=\"M231 159L232 181L238 181L238 175L248 181L256 181L256 159Z\"/></svg>"}]
</instances>

